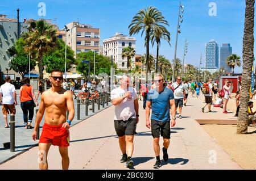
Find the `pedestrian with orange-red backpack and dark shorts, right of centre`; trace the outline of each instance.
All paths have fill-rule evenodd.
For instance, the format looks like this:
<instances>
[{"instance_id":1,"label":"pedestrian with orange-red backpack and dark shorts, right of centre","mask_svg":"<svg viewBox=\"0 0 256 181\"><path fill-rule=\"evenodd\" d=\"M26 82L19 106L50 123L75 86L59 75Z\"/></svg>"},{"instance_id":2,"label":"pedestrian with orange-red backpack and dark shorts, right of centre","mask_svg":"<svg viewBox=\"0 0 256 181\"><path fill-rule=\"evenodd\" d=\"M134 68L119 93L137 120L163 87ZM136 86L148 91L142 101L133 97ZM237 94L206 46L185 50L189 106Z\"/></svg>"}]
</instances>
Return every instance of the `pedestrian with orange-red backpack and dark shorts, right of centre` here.
<instances>
[{"instance_id":1,"label":"pedestrian with orange-red backpack and dark shorts, right of centre","mask_svg":"<svg viewBox=\"0 0 256 181\"><path fill-rule=\"evenodd\" d=\"M204 83L203 84L203 94L204 94L204 98L205 98L205 106L208 105L208 112L212 112L210 110L210 105L212 104L212 79L209 78L208 83ZM205 106L202 108L202 112L204 112L204 108Z\"/></svg>"}]
</instances>

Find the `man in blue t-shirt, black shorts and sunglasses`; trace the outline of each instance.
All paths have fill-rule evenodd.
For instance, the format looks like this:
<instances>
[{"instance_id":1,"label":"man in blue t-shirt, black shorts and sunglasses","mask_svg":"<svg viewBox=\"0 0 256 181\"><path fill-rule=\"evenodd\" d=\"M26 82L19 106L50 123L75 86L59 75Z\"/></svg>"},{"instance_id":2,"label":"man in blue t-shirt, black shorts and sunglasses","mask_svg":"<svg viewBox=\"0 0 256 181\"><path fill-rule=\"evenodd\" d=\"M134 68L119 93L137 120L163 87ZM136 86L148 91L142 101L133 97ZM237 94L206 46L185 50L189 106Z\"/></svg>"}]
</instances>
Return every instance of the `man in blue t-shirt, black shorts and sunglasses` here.
<instances>
[{"instance_id":1,"label":"man in blue t-shirt, black shorts and sunglasses","mask_svg":"<svg viewBox=\"0 0 256 181\"><path fill-rule=\"evenodd\" d=\"M164 78L162 74L155 75L155 89L148 91L146 103L146 127L151 127L151 133L154 138L154 151L156 155L156 163L154 169L159 169L160 161L160 146L159 133L163 137L163 159L168 160L167 149L170 145L170 107L172 112L171 127L175 126L176 108L174 102L174 93L171 89L163 86ZM152 115L150 121L150 107L152 105Z\"/></svg>"}]
</instances>

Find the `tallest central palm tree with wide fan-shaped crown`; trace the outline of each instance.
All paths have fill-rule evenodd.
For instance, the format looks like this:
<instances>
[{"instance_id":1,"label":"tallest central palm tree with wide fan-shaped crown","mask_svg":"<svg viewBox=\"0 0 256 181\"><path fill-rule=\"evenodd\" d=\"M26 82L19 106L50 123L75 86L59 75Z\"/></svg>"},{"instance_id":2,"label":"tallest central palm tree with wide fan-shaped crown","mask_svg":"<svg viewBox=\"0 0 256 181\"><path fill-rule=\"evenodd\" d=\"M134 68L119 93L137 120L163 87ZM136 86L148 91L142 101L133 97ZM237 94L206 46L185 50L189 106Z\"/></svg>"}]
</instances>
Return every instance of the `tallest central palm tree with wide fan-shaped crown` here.
<instances>
[{"instance_id":1,"label":"tallest central palm tree with wide fan-shaped crown","mask_svg":"<svg viewBox=\"0 0 256 181\"><path fill-rule=\"evenodd\" d=\"M128 26L129 34L134 35L142 30L141 36L145 32L145 45L146 45L146 71L150 72L149 65L149 41L150 32L154 31L160 27L164 27L163 24L168 26L167 20L164 19L162 13L155 7L148 7L147 9L139 10L139 12L131 20L131 24ZM147 82L146 73L146 82Z\"/></svg>"}]
</instances>

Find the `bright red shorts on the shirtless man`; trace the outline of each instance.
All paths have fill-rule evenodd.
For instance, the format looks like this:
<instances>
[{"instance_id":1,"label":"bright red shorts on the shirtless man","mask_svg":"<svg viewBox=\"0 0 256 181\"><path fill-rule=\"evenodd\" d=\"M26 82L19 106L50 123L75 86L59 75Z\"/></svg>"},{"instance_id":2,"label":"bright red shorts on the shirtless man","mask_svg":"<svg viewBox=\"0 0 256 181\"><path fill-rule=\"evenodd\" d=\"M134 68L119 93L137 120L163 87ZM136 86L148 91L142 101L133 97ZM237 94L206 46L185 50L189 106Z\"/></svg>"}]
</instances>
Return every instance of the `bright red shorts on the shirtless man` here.
<instances>
[{"instance_id":1,"label":"bright red shorts on the shirtless man","mask_svg":"<svg viewBox=\"0 0 256 181\"><path fill-rule=\"evenodd\" d=\"M69 131L60 125L44 123L39 143L52 143L55 146L69 146Z\"/></svg>"}]
</instances>

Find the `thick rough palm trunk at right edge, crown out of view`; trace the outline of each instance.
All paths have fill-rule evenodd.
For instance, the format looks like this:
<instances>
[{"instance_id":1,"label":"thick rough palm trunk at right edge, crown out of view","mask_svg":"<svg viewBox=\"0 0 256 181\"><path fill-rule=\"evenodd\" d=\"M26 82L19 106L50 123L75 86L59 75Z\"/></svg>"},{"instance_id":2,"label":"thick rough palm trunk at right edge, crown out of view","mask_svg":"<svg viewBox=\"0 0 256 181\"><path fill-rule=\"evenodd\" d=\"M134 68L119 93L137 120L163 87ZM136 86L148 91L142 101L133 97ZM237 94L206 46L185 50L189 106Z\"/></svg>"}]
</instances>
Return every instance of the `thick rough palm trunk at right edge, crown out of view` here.
<instances>
[{"instance_id":1,"label":"thick rough palm trunk at right edge, crown out of view","mask_svg":"<svg viewBox=\"0 0 256 181\"><path fill-rule=\"evenodd\" d=\"M254 57L254 3L255 0L246 0L245 27L243 30L243 73L241 82L240 111L237 120L237 134L246 134L248 128L249 91L251 85L251 68Z\"/></svg>"}]
</instances>

